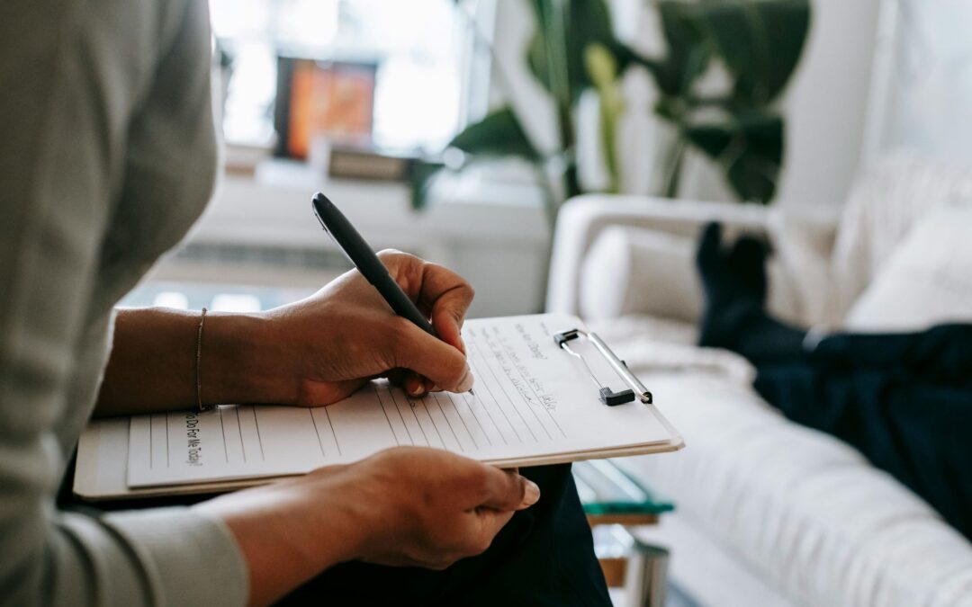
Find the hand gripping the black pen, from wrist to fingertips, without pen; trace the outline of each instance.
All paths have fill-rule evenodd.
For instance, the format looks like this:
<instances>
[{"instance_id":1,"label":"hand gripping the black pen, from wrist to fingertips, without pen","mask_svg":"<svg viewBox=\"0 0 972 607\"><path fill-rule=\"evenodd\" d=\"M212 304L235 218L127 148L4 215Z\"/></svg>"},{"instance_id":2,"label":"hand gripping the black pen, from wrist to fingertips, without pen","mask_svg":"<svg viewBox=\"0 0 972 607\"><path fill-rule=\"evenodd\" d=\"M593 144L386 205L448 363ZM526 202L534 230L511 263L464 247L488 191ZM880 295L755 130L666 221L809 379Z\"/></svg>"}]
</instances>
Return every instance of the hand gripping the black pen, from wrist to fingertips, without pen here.
<instances>
[{"instance_id":1,"label":"hand gripping the black pen, from wrist to fingertips, without pen","mask_svg":"<svg viewBox=\"0 0 972 607\"><path fill-rule=\"evenodd\" d=\"M266 313L275 342L267 372L289 378L283 401L336 402L370 378L387 376L412 396L441 388L466 391L472 374L460 335L473 290L458 274L413 255L378 253L392 278L432 320L433 337L396 316L357 270L294 304Z\"/></svg>"}]
</instances>

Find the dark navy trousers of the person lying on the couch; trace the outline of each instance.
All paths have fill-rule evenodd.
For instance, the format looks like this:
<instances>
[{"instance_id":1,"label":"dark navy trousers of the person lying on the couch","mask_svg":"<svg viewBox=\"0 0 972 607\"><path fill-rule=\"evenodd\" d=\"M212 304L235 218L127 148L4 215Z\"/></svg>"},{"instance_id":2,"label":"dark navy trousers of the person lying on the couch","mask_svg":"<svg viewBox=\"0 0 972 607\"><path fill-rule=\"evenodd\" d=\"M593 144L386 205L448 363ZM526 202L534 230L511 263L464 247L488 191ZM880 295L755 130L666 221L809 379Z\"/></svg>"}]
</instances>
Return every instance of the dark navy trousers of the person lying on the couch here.
<instances>
[{"instance_id":1,"label":"dark navy trousers of the person lying on the couch","mask_svg":"<svg viewBox=\"0 0 972 607\"><path fill-rule=\"evenodd\" d=\"M756 390L851 444L972 539L972 325L835 335L757 362Z\"/></svg>"}]
</instances>

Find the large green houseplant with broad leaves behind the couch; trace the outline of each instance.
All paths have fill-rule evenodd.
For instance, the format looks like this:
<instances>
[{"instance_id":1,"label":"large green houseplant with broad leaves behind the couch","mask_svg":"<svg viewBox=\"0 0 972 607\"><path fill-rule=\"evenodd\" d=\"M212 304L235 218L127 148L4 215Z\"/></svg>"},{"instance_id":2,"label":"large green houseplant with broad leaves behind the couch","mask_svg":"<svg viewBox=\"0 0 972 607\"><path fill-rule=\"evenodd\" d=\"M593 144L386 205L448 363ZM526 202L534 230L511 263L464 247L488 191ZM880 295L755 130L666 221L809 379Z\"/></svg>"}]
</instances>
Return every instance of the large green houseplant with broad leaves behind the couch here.
<instances>
[{"instance_id":1,"label":"large green houseplant with broad leaves behind the couch","mask_svg":"<svg viewBox=\"0 0 972 607\"><path fill-rule=\"evenodd\" d=\"M604 0L524 1L537 22L525 61L556 110L559 148L540 152L515 110L505 105L456 135L449 147L465 155L453 169L486 157L523 158L537 169L554 219L562 200L581 193L573 111L581 93L594 89L608 189L616 191L620 162L614 137L618 119L628 111L620 79L626 70L644 69L658 91L651 111L676 133L659 193L677 195L682 160L691 148L712 158L741 201L773 199L785 136L775 102L799 62L810 24L809 0L653 0L666 48L660 56L642 55L617 40ZM700 93L699 84L716 69L729 84L715 94ZM432 161L415 166L416 208L425 205L429 185L443 166Z\"/></svg>"}]
</instances>

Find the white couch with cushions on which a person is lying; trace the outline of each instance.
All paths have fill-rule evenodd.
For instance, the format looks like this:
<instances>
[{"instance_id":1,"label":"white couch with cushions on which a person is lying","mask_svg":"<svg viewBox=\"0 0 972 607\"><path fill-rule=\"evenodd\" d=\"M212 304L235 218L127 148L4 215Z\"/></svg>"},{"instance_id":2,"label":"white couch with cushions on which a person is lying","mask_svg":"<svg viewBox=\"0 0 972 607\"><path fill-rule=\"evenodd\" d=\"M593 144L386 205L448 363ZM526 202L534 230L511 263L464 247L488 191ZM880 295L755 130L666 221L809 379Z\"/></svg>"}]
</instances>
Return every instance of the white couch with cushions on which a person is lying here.
<instances>
[{"instance_id":1,"label":"white couch with cushions on which a person is lying","mask_svg":"<svg viewBox=\"0 0 972 607\"><path fill-rule=\"evenodd\" d=\"M834 326L881 316L874 303L855 312L861 293L883 280L920 218L958 198L972 200L972 173L901 156L861 177L840 218L621 196L562 210L548 309L584 316L684 435L677 454L622 465L676 502L643 535L671 547L673 580L701 604L972 605L968 541L850 446L762 402L745 360L692 345L701 295L691 257L703 221L767 233L777 253L771 308ZM970 268L952 268L950 282L968 311Z\"/></svg>"}]
</instances>

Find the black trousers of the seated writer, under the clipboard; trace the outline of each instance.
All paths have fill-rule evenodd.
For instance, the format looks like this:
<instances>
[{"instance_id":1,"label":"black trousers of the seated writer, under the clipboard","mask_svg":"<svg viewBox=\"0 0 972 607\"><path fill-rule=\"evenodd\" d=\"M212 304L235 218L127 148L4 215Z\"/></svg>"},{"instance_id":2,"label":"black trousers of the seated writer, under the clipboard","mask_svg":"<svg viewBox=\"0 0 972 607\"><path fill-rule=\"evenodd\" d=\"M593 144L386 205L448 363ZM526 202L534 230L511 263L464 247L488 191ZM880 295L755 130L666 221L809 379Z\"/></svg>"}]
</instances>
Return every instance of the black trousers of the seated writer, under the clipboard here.
<instances>
[{"instance_id":1,"label":"black trousers of the seated writer, under the clipboard","mask_svg":"<svg viewBox=\"0 0 972 607\"><path fill-rule=\"evenodd\" d=\"M69 467L74 470L73 462ZM608 587L584 516L571 465L523 468L537 483L540 499L518 512L497 535L489 550L464 558L443 571L418 567L385 567L363 562L337 565L286 597L282 605L369 607L610 607ZM61 506L79 508L70 496L71 479L61 490ZM144 500L142 507L186 504L194 498ZM131 508L132 502L110 502L98 510ZM282 565L283 566L283 565Z\"/></svg>"}]
</instances>

